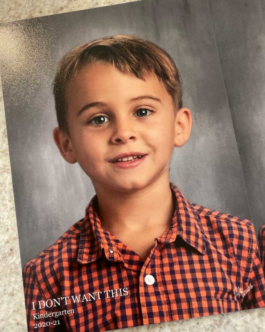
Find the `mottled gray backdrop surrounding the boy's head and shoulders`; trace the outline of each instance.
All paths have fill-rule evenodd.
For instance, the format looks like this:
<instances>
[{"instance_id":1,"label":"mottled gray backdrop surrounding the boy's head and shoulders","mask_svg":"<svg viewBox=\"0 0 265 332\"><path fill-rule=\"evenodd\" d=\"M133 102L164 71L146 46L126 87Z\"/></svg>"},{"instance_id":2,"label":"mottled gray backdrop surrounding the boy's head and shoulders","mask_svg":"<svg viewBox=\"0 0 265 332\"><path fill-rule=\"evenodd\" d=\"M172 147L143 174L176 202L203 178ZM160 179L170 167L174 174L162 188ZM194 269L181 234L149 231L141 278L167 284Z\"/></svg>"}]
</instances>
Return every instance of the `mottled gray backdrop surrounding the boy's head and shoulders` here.
<instances>
[{"instance_id":1,"label":"mottled gray backdrop surrounding the boy's head and shoulders","mask_svg":"<svg viewBox=\"0 0 265 332\"><path fill-rule=\"evenodd\" d=\"M22 265L81 219L94 195L90 179L78 164L68 164L53 142L57 123L52 80L69 49L104 36L134 34L173 57L193 129L185 146L175 148L171 180L192 202L251 219L240 162L246 142L240 136L239 156L229 108L237 92L227 99L235 78L227 68L226 89L212 27L213 18L222 22L224 16L218 13L217 1L210 7L212 19L206 0L143 0L1 25L1 75ZM229 10L228 3L222 7ZM214 27L218 31L218 22ZM222 65L227 58L221 39L226 37L231 36L220 36ZM238 134L244 119L237 109L232 116L238 119ZM253 122L249 130L261 135ZM255 176L259 174L253 170ZM254 218L256 226L258 222Z\"/></svg>"}]
</instances>

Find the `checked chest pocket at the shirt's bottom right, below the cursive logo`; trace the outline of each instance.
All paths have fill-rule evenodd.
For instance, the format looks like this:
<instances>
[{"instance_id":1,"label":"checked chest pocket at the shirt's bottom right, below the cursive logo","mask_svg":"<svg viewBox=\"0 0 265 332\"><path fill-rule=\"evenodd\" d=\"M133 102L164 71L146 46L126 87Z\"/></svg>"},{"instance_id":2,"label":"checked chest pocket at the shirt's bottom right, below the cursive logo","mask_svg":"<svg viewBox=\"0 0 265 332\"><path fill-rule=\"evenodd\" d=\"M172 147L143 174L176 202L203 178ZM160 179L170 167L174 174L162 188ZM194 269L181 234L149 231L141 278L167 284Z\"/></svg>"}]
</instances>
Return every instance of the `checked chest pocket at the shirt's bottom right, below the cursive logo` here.
<instances>
[{"instance_id":1,"label":"checked chest pocket at the shirt's bottom right, below the cursive logo","mask_svg":"<svg viewBox=\"0 0 265 332\"><path fill-rule=\"evenodd\" d=\"M241 310L237 300L214 297L191 299L189 308L191 318Z\"/></svg>"}]
</instances>

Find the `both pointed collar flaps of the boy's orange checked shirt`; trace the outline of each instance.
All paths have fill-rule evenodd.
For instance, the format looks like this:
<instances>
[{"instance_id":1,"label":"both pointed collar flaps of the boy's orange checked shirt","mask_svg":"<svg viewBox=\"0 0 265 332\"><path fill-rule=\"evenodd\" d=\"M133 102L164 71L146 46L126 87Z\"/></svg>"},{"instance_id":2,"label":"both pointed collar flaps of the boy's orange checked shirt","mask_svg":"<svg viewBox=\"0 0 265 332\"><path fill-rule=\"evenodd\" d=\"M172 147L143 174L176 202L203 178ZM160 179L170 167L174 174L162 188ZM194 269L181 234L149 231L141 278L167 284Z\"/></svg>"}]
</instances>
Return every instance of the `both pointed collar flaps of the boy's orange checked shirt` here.
<instances>
[{"instance_id":1,"label":"both pointed collar flaps of the boy's orange checked shirt","mask_svg":"<svg viewBox=\"0 0 265 332\"><path fill-rule=\"evenodd\" d=\"M173 183L170 187L176 197L176 210L172 222L165 233L157 238L160 242L177 241L177 235L201 254L205 254L205 235L199 215L186 200L184 194ZM85 217L80 229L78 262L94 262L104 252L109 261L120 262L123 258L116 246L114 236L102 227L96 212L97 197L94 196L85 210Z\"/></svg>"}]
</instances>

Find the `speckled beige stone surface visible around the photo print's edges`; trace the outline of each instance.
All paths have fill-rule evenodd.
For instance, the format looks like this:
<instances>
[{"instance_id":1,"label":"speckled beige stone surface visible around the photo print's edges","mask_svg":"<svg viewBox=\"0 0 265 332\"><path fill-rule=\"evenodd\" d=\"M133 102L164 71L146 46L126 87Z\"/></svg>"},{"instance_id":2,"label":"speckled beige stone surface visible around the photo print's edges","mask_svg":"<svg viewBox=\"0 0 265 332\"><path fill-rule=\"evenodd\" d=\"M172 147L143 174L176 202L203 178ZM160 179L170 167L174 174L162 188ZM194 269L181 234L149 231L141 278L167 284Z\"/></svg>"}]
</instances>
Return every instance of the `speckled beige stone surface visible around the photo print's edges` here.
<instances>
[{"instance_id":1,"label":"speckled beige stone surface visible around the photo print's edges","mask_svg":"<svg viewBox=\"0 0 265 332\"><path fill-rule=\"evenodd\" d=\"M130 0L2 0L0 22L131 2ZM0 85L0 331L27 331L2 88ZM265 308L119 331L265 331ZM118 331L118 330L117 330Z\"/></svg>"}]
</instances>

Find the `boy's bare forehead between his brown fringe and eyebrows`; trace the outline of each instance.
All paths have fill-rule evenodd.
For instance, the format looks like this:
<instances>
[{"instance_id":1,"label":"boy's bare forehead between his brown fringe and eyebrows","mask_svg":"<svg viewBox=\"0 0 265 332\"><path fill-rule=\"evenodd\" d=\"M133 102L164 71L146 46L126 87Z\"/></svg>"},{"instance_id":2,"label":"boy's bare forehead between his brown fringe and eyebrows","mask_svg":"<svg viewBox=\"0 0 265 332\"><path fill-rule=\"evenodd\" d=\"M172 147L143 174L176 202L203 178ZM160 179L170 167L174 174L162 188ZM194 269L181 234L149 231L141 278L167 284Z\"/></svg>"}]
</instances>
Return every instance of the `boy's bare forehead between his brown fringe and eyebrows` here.
<instances>
[{"instance_id":1,"label":"boy's bare forehead between his brown fringe and eyebrows","mask_svg":"<svg viewBox=\"0 0 265 332\"><path fill-rule=\"evenodd\" d=\"M80 67L66 88L68 104L88 101L108 102L131 100L140 95L153 95L158 99L168 99L165 85L152 72L145 72L143 79L132 73L123 73L114 65L95 62Z\"/></svg>"}]
</instances>

